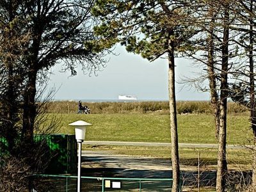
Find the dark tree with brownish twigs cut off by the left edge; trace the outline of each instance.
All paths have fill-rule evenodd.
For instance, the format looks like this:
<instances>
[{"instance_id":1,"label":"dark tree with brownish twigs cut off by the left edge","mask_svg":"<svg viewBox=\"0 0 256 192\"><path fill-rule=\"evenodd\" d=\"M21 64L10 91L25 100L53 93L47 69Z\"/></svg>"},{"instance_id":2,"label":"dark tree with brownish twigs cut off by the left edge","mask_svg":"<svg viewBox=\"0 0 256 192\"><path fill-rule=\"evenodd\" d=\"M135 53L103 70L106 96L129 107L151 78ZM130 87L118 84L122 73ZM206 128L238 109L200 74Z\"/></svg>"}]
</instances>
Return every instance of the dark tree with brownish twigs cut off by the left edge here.
<instances>
[{"instance_id":1,"label":"dark tree with brownish twigs cut off by the left edge","mask_svg":"<svg viewBox=\"0 0 256 192\"><path fill-rule=\"evenodd\" d=\"M0 137L6 138L8 151L12 152L19 137L20 104L24 70L20 65L20 55L28 44L29 33L22 33L25 21L17 17L19 1L0 3L0 66L1 66L1 106Z\"/></svg>"}]
</instances>

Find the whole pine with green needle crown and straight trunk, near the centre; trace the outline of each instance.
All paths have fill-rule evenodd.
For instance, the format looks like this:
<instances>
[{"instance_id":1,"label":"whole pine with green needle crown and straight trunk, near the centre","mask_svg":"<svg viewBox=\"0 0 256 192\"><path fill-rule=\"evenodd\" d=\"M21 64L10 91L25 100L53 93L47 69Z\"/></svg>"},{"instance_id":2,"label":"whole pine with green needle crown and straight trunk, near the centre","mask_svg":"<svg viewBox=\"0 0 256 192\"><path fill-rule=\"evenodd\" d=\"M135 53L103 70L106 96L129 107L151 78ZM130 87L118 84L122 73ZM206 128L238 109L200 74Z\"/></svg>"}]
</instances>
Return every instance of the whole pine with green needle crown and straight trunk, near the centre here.
<instances>
[{"instance_id":1,"label":"whole pine with green needle crown and straight trunk, near the centre","mask_svg":"<svg viewBox=\"0 0 256 192\"><path fill-rule=\"evenodd\" d=\"M188 4L188 3L187 3ZM175 54L189 48L196 31L184 20L191 10L186 1L96 1L93 13L102 23L98 35L114 45L120 42L127 51L149 61L168 58L170 131L172 139L172 191L179 190L180 170L175 99Z\"/></svg>"}]
</instances>

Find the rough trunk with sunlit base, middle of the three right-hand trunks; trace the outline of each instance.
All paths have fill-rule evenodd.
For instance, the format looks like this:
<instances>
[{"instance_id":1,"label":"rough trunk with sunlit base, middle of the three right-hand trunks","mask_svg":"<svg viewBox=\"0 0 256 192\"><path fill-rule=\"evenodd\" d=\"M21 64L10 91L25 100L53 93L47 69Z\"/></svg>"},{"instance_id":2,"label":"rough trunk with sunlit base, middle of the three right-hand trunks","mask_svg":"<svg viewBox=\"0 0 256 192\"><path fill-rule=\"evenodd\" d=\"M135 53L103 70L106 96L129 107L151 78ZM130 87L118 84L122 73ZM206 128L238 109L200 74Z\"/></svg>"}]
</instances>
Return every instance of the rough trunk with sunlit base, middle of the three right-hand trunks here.
<instances>
[{"instance_id":1,"label":"rough trunk with sunlit base, middle of the three right-hand trunks","mask_svg":"<svg viewBox=\"0 0 256 192\"><path fill-rule=\"evenodd\" d=\"M226 159L226 136L227 136L227 97L228 97L228 38L229 38L229 13L228 3L225 3L224 11L224 29L223 29L223 45L222 45L222 66L221 66L221 93L220 93L220 134L218 146L218 164L216 191L225 191L225 177L227 173Z\"/></svg>"}]
</instances>

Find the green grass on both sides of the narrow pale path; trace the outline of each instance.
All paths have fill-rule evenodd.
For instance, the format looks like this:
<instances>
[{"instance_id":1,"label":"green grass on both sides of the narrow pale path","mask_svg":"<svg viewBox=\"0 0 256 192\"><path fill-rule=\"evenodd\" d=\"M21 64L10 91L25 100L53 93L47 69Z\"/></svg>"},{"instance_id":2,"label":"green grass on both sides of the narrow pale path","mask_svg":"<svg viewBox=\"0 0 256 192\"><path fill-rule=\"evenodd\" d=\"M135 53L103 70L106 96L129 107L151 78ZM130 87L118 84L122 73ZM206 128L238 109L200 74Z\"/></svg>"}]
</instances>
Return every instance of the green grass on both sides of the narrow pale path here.
<instances>
[{"instance_id":1,"label":"green grass on both sides of the narrow pale path","mask_svg":"<svg viewBox=\"0 0 256 192\"><path fill-rule=\"evenodd\" d=\"M86 129L86 140L170 142L168 115L146 114L51 114L60 118L59 133L72 134L70 122L84 120L93 124ZM178 115L179 143L216 143L212 115ZM252 131L248 116L228 115L227 144L250 144ZM170 158L169 147L132 147L83 145L83 150L104 150L110 154ZM216 148L180 148L180 161L186 165L198 163L198 152L202 163L216 164ZM228 149L228 162L250 164L250 150Z\"/></svg>"}]
</instances>

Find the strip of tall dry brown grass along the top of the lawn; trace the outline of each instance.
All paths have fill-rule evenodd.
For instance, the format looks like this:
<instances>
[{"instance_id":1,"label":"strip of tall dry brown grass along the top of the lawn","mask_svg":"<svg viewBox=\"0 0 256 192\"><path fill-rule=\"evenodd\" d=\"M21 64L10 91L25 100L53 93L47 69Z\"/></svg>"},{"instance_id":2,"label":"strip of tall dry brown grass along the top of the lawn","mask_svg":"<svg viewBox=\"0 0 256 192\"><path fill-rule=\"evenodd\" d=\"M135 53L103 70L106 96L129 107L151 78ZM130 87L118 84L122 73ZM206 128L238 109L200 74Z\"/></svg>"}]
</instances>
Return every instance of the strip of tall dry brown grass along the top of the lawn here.
<instances>
[{"instance_id":1,"label":"strip of tall dry brown grass along the top of the lawn","mask_svg":"<svg viewBox=\"0 0 256 192\"><path fill-rule=\"evenodd\" d=\"M88 106L91 113L159 113L168 114L169 104L166 101L145 102L83 102ZM78 101L54 101L49 104L48 113L77 113ZM228 102L228 113L246 113L248 109L235 102ZM209 101L179 101L177 102L177 113L213 113Z\"/></svg>"}]
</instances>

